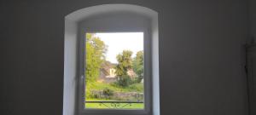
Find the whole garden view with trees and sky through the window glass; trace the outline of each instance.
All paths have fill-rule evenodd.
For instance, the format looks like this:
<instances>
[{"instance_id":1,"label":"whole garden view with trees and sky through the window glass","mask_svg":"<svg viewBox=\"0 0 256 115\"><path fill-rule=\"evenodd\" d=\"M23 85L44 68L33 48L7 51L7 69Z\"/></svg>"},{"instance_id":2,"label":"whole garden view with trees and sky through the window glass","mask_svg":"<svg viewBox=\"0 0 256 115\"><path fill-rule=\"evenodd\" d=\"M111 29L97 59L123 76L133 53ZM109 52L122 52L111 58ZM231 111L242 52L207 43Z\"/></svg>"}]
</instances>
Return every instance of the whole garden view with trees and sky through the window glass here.
<instances>
[{"instance_id":1,"label":"whole garden view with trees and sky through the window glass","mask_svg":"<svg viewBox=\"0 0 256 115\"><path fill-rule=\"evenodd\" d=\"M85 34L85 108L144 109L143 32Z\"/></svg>"}]
</instances>

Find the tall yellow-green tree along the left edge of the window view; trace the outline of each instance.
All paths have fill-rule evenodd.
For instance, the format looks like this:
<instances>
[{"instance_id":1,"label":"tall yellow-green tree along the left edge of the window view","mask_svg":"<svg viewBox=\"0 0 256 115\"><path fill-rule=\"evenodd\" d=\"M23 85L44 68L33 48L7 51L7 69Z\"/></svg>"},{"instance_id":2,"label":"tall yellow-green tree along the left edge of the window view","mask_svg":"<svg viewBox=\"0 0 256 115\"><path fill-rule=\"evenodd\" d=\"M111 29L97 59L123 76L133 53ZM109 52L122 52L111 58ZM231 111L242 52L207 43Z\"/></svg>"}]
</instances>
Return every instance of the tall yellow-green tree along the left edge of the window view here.
<instances>
[{"instance_id":1,"label":"tall yellow-green tree along the left edge of the window view","mask_svg":"<svg viewBox=\"0 0 256 115\"><path fill-rule=\"evenodd\" d=\"M85 81L94 82L99 77L102 62L105 61L107 45L94 33L86 33Z\"/></svg>"}]
</instances>

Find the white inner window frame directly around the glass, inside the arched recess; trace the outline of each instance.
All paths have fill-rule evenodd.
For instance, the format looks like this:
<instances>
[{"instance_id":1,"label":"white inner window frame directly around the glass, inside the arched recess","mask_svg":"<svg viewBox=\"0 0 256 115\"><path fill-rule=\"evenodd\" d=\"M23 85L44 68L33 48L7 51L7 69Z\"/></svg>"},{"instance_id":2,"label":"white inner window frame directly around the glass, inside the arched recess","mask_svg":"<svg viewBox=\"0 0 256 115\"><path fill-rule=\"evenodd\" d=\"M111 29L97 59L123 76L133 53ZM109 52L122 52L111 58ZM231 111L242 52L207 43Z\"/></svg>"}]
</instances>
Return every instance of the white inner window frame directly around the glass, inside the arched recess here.
<instances>
[{"instance_id":1,"label":"white inner window frame directly around the glass, inside the arched recess","mask_svg":"<svg viewBox=\"0 0 256 115\"><path fill-rule=\"evenodd\" d=\"M123 14L113 14L113 16L111 16L111 14L108 14L108 16L96 16L96 18L92 18L90 20L84 20L83 22L79 23L79 32L80 32L80 39L79 39L79 43L80 43L80 51L79 51L79 55L80 55L80 76L84 75L84 48L85 48L85 33L96 33L96 32L143 32L143 46L144 46L144 109L90 109L90 108L85 108L84 109L84 100L83 98L79 98L79 112L81 113L115 113L115 112L119 112L119 114L127 114L127 112L129 113L129 115L132 114L148 114L150 112L150 108L151 107L151 61L150 60L150 55L151 55L151 40L149 38L149 21L145 18L143 18L142 16L139 15L135 15L135 14L129 14L129 13L123 13ZM127 16L129 15L129 16ZM123 17L125 16L125 17ZM137 18L134 18L138 16ZM130 18L130 19L129 19ZM115 23L110 23L109 20L116 20L114 21ZM117 24L119 25L120 21L126 21L125 22L125 26L121 26L122 29L120 30L119 28L115 28L113 27L113 25ZM133 20L137 20L138 23L137 24L131 24L129 22L134 23ZM100 21L100 22L99 22ZM118 23L119 22L119 23ZM97 26L100 23L99 26ZM108 25L110 24L110 25ZM90 26L88 26L90 25ZM102 27L101 25L103 25L104 27ZM126 27L128 26L129 27ZM86 52L86 51L85 51ZM81 84L79 84L79 97L84 97L84 80L86 77L82 77L80 80Z\"/></svg>"}]
</instances>

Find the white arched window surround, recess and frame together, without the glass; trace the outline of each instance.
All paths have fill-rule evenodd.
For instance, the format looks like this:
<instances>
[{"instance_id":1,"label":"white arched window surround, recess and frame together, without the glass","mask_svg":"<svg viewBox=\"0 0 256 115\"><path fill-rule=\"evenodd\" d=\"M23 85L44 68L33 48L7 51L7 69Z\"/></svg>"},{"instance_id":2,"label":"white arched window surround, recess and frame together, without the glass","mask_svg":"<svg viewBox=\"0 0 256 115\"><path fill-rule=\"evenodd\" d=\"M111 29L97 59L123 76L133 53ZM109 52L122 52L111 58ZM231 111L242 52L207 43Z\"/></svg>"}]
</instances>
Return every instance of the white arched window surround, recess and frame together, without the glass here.
<instances>
[{"instance_id":1,"label":"white arched window surround, recess and frame together, without the glass","mask_svg":"<svg viewBox=\"0 0 256 115\"><path fill-rule=\"evenodd\" d=\"M81 9L72 14L68 14L65 20L63 114L159 115L160 98L157 13L152 9L130 4L105 4L86 9L87 10ZM87 14L87 16L84 16L83 14ZM110 16L109 20L109 15L111 14L113 14L113 17ZM131 17L126 17L128 20L125 20L124 25L121 23L115 25L114 22L122 20L122 16L115 16L122 14L131 14ZM86 32L144 33L145 96L143 110L84 109L84 99L82 97L84 97L84 45Z\"/></svg>"}]
</instances>

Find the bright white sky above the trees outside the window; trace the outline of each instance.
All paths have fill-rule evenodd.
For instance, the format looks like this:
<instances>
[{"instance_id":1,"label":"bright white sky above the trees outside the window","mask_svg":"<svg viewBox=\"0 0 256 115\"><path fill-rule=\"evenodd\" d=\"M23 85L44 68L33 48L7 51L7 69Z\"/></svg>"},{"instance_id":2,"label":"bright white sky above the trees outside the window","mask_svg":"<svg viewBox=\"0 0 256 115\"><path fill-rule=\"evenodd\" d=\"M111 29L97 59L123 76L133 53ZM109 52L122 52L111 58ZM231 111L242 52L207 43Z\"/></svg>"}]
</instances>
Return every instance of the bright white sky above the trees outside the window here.
<instances>
[{"instance_id":1,"label":"bright white sky above the trees outside the window","mask_svg":"<svg viewBox=\"0 0 256 115\"><path fill-rule=\"evenodd\" d=\"M133 52L132 57L136 56L137 51L143 50L143 32L104 32L96 33L96 37L108 45L106 60L118 63L116 55L128 49Z\"/></svg>"}]
</instances>

